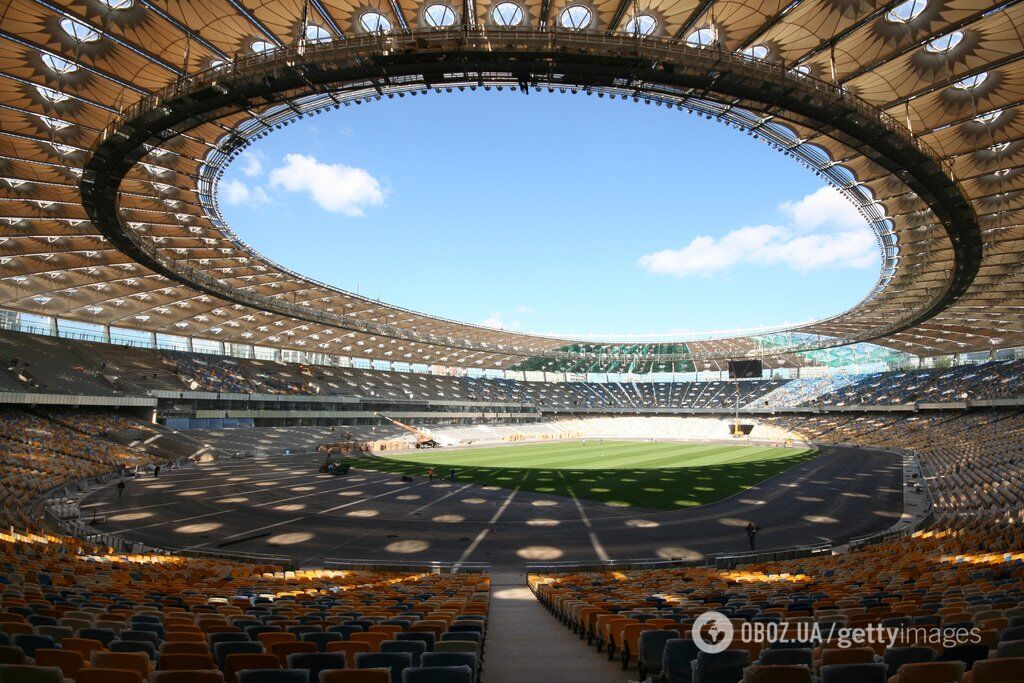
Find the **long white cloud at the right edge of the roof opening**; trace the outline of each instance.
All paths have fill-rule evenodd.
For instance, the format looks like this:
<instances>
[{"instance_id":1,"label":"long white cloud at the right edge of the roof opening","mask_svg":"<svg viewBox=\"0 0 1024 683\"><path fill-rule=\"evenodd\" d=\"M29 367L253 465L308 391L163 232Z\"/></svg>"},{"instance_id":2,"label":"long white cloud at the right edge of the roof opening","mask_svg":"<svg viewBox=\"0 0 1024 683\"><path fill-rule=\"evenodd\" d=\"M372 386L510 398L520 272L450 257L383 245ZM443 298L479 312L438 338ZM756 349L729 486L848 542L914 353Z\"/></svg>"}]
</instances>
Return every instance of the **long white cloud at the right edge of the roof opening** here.
<instances>
[{"instance_id":1,"label":"long white cloud at the right edge of the roof opening","mask_svg":"<svg viewBox=\"0 0 1024 683\"><path fill-rule=\"evenodd\" d=\"M681 249L645 254L638 264L653 274L688 278L740 264L806 271L878 263L874 236L853 205L831 187L785 202L780 209L790 224L740 227L720 238L697 236ZM830 229L815 231L821 227Z\"/></svg>"}]
</instances>

